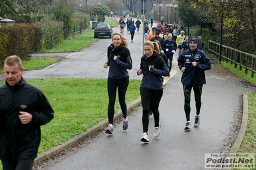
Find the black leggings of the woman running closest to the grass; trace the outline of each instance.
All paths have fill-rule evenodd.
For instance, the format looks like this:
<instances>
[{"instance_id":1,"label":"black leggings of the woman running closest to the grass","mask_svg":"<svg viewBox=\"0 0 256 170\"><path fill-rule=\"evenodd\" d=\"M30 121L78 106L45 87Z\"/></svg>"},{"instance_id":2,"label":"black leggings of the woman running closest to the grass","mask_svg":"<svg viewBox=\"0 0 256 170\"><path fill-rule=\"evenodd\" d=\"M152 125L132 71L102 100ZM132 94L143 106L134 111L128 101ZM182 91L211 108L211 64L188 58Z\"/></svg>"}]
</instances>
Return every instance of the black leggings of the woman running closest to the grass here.
<instances>
[{"instance_id":1,"label":"black leggings of the woman running closest to the grass","mask_svg":"<svg viewBox=\"0 0 256 170\"><path fill-rule=\"evenodd\" d=\"M124 118L127 117L127 105L125 104L125 94L129 84L129 77L124 79L108 78L108 123L113 124L116 102L116 88L118 88L118 98Z\"/></svg>"}]
</instances>

